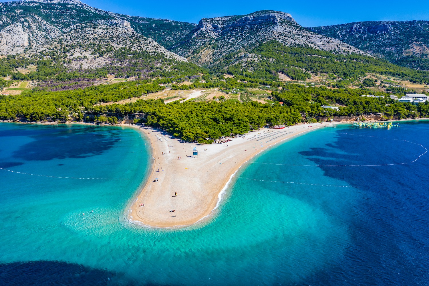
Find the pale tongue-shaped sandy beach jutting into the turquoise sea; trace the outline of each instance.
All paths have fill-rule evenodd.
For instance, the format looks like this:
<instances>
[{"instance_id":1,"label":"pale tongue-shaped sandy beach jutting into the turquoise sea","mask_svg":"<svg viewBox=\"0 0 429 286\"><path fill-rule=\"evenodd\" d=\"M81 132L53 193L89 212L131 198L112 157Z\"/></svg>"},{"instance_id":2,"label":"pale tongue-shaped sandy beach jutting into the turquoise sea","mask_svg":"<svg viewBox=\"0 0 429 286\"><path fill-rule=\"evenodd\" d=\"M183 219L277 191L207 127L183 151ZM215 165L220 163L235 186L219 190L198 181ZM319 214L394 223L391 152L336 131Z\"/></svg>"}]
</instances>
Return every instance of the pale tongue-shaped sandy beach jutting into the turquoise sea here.
<instances>
[{"instance_id":1,"label":"pale tongue-shaped sandy beach jutting into the turquoise sea","mask_svg":"<svg viewBox=\"0 0 429 286\"><path fill-rule=\"evenodd\" d=\"M139 128L150 139L153 170L131 205L128 219L150 227L169 228L207 218L217 206L221 191L246 161L276 143L331 124L261 128L244 137L227 137L225 140L230 141L205 145L172 139L162 130ZM193 148L198 151L197 156L193 156Z\"/></svg>"}]
</instances>

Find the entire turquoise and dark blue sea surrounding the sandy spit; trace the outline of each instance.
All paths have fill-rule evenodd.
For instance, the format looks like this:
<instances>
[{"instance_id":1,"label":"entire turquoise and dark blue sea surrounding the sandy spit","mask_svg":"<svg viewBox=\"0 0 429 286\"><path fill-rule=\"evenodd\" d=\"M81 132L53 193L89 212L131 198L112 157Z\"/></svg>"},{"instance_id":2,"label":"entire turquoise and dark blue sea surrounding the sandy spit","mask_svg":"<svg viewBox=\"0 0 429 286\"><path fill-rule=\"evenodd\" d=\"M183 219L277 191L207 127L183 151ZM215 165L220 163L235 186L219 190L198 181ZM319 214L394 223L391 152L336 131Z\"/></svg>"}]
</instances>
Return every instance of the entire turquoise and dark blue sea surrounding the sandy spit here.
<instances>
[{"instance_id":1,"label":"entire turquoise and dark blue sea surrounding the sandy spit","mask_svg":"<svg viewBox=\"0 0 429 286\"><path fill-rule=\"evenodd\" d=\"M1 123L0 285L429 285L429 124L400 125L286 141L169 230L127 221L139 131Z\"/></svg>"}]
</instances>

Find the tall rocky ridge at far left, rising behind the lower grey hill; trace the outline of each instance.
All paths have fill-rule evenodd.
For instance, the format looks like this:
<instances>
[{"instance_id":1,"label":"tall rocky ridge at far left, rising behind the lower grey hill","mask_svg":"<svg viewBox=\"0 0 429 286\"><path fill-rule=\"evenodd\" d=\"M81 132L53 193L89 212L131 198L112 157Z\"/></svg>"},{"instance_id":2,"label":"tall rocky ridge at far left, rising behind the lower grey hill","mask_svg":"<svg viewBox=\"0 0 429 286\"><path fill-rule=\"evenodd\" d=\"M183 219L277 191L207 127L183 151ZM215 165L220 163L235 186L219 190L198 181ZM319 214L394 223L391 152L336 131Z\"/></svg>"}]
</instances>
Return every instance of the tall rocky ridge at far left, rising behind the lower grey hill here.
<instances>
[{"instance_id":1,"label":"tall rocky ridge at far left, rising behind the lower grey hill","mask_svg":"<svg viewBox=\"0 0 429 286\"><path fill-rule=\"evenodd\" d=\"M121 15L96 9L79 0L24 0L0 3L0 55L14 55L42 46L77 24L130 28L169 47L194 24Z\"/></svg>"}]
</instances>

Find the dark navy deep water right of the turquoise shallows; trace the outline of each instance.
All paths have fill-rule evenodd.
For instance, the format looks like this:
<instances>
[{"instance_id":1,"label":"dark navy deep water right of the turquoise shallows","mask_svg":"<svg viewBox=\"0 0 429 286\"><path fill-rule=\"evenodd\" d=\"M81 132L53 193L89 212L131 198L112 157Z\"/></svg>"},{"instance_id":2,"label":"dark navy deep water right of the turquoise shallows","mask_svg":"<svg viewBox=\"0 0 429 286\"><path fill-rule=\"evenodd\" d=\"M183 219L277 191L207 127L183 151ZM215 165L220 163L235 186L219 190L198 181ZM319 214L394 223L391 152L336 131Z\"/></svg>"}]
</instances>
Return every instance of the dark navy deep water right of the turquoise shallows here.
<instances>
[{"instance_id":1,"label":"dark navy deep water right of the turquoise shallows","mask_svg":"<svg viewBox=\"0 0 429 286\"><path fill-rule=\"evenodd\" d=\"M359 207L348 210L353 243L341 261L299 285L428 285L429 184L418 171L429 167L428 153L419 158L429 146L428 129L343 128L334 143L299 152L322 165L325 176L362 192ZM335 166L354 164L368 166Z\"/></svg>"}]
</instances>

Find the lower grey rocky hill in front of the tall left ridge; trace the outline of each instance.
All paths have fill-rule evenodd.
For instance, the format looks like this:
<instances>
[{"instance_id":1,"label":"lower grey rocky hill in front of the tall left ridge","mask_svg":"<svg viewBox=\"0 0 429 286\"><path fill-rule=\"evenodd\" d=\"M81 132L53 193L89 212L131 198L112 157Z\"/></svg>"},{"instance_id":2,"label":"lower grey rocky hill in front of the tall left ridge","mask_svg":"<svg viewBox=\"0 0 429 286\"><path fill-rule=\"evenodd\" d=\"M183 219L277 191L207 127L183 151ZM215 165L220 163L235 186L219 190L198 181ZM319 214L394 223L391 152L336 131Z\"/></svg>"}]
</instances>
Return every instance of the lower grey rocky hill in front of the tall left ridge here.
<instances>
[{"instance_id":1,"label":"lower grey rocky hill in front of the tall left ridge","mask_svg":"<svg viewBox=\"0 0 429 286\"><path fill-rule=\"evenodd\" d=\"M69 32L46 45L28 50L24 55L61 62L69 70L126 66L136 60L159 65L163 58L187 62L187 59L167 51L130 27L104 24L75 25Z\"/></svg>"}]
</instances>

